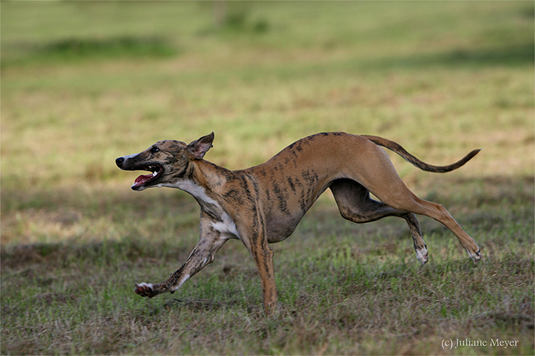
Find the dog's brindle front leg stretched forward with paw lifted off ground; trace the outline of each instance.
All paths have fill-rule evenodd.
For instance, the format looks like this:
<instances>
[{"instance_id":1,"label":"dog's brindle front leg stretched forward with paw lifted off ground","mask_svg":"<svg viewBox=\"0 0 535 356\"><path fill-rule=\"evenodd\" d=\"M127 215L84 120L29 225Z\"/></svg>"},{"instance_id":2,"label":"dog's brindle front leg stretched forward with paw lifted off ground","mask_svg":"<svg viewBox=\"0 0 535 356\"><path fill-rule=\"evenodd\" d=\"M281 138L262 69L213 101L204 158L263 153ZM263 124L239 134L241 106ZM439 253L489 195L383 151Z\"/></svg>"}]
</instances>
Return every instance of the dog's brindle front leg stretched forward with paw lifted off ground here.
<instances>
[{"instance_id":1,"label":"dog's brindle front leg stretched forward with paw lifted off ground","mask_svg":"<svg viewBox=\"0 0 535 356\"><path fill-rule=\"evenodd\" d=\"M171 273L169 278L161 283L136 284L136 293L148 298L165 292L175 293L175 290L180 288L185 281L188 281L195 273L208 265L208 263L211 263L215 253L225 244L226 239L222 239L218 231L203 229L202 221L200 232L201 236L198 244L178 270Z\"/></svg>"}]
</instances>

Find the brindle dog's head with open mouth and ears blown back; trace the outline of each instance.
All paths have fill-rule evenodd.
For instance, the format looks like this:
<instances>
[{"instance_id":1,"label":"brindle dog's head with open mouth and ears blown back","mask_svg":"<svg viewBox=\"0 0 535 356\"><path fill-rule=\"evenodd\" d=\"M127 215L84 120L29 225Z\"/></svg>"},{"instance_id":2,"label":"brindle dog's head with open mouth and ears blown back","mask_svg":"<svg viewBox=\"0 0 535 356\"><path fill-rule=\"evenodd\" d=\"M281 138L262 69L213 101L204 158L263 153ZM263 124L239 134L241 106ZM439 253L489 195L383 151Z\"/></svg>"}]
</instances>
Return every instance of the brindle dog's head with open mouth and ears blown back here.
<instances>
[{"instance_id":1,"label":"brindle dog's head with open mouth and ears blown back","mask_svg":"<svg viewBox=\"0 0 535 356\"><path fill-rule=\"evenodd\" d=\"M132 185L133 190L174 187L187 179L192 162L203 159L212 147L213 137L212 132L189 145L174 140L158 141L143 152L118 157L115 162L117 167L127 171L152 172L152 174L137 177Z\"/></svg>"}]
</instances>

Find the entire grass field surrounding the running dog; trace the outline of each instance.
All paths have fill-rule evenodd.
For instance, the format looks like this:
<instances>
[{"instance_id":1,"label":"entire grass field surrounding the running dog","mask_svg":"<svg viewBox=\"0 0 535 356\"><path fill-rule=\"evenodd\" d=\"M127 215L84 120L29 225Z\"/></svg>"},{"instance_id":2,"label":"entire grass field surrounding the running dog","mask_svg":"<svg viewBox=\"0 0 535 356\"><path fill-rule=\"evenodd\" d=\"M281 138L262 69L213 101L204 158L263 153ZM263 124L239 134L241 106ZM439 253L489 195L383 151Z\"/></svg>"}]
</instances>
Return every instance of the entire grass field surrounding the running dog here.
<instances>
[{"instance_id":1,"label":"entire grass field surrounding the running dog","mask_svg":"<svg viewBox=\"0 0 535 356\"><path fill-rule=\"evenodd\" d=\"M534 354L532 1L2 1L0 22L2 355ZM404 221L352 224L327 192L272 245L276 315L239 241L133 293L188 257L198 205L132 192L116 157L215 131L206 159L240 169L330 130L432 164L483 148L449 174L392 155L483 260L422 216L421 266Z\"/></svg>"}]
</instances>

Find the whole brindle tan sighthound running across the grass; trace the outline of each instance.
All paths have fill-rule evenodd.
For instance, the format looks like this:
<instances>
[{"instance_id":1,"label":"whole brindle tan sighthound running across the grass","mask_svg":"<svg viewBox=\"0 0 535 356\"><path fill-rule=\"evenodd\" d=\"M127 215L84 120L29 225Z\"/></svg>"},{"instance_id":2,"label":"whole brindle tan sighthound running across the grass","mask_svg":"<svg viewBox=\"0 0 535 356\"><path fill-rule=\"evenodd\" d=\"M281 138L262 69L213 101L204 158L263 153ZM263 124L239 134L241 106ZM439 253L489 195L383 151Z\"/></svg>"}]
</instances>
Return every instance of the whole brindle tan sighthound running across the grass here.
<instances>
[{"instance_id":1,"label":"whole brindle tan sighthound running across the grass","mask_svg":"<svg viewBox=\"0 0 535 356\"><path fill-rule=\"evenodd\" d=\"M180 288L211 263L228 239L239 239L253 256L260 273L263 306L275 309L277 290L271 243L286 239L320 194L329 188L343 218L365 223L399 216L407 221L414 250L422 264L428 260L414 214L430 216L447 226L468 256L481 259L479 246L444 206L419 199L399 178L386 147L428 172L449 172L472 159L473 150L448 166L433 166L410 155L396 142L377 136L323 132L286 147L264 164L230 171L203 159L214 139L200 137L189 145L165 140L136 155L116 159L119 168L145 170L132 189L171 187L191 194L200 205L200 239L185 263L161 283L136 284L136 293L153 297ZM379 199L370 198L370 192Z\"/></svg>"}]
</instances>

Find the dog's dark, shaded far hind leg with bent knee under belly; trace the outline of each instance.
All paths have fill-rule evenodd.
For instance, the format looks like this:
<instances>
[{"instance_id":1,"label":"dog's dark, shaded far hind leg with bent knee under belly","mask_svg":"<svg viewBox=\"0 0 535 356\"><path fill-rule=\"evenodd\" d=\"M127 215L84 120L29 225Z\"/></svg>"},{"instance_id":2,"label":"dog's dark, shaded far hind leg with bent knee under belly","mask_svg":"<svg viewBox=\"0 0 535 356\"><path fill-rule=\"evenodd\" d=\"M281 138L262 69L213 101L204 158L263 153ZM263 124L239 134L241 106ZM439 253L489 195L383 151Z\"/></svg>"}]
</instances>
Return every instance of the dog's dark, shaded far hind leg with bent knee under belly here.
<instances>
[{"instance_id":1,"label":"dog's dark, shaded far hind leg with bent knee under belly","mask_svg":"<svg viewBox=\"0 0 535 356\"><path fill-rule=\"evenodd\" d=\"M337 179L331 184L330 189L344 219L357 224L379 220L386 216L399 216L405 219L412 234L416 258L422 264L429 260L427 246L414 214L394 209L392 206L371 199L370 192L351 179Z\"/></svg>"}]
</instances>

